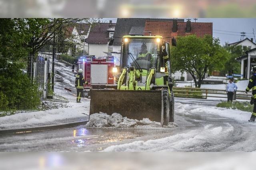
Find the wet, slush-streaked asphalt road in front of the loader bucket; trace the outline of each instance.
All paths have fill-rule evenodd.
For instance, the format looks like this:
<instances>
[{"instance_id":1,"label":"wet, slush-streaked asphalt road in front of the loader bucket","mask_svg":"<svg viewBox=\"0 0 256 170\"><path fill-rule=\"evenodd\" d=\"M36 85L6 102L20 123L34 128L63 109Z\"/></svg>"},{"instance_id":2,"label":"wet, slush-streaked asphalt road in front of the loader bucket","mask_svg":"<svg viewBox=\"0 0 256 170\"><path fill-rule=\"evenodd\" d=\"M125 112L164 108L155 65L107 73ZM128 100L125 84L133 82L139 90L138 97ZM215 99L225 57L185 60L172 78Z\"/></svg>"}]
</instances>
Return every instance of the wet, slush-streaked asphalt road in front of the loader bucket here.
<instances>
[{"instance_id":1,"label":"wet, slush-streaked asphalt road in front of the loader bucket","mask_svg":"<svg viewBox=\"0 0 256 170\"><path fill-rule=\"evenodd\" d=\"M84 126L0 135L0 151L101 151L111 145L177 136L149 151L255 151L255 126L217 115L176 112L178 127L163 130L91 129ZM157 148L159 147L159 148ZM140 150L141 151L141 150Z\"/></svg>"}]
</instances>

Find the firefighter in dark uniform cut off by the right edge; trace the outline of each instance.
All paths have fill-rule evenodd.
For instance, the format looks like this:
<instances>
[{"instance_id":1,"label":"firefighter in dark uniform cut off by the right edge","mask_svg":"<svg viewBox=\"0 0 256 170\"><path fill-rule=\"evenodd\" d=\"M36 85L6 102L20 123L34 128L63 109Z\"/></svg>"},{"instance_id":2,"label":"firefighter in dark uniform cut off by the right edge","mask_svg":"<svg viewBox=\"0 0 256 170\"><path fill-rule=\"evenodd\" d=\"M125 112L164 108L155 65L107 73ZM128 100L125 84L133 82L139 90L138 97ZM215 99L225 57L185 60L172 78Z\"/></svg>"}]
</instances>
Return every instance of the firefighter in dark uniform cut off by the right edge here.
<instances>
[{"instance_id":1,"label":"firefighter in dark uniform cut off by the right edge","mask_svg":"<svg viewBox=\"0 0 256 170\"><path fill-rule=\"evenodd\" d=\"M252 99L250 104L254 105L253 111L252 111L252 116L248 122L254 122L256 118L256 66L252 67L251 69L251 74L252 77L249 80L249 84L246 87L246 93L252 89Z\"/></svg>"}]
</instances>

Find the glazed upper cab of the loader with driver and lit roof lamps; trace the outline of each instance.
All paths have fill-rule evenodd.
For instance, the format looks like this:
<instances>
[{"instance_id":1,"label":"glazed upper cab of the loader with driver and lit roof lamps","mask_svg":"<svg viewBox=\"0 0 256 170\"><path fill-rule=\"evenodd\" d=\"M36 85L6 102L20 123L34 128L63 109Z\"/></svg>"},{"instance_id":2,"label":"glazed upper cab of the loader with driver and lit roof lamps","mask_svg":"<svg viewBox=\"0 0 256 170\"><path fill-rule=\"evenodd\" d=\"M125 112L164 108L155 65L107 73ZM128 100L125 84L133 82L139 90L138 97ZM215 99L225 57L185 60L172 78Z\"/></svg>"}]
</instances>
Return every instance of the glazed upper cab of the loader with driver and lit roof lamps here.
<instances>
[{"instance_id":1,"label":"glazed upper cab of the loader with driver and lit roof lamps","mask_svg":"<svg viewBox=\"0 0 256 170\"><path fill-rule=\"evenodd\" d=\"M121 50L121 69L134 66L136 69L165 67L163 56L170 57L170 45L162 36L124 36Z\"/></svg>"}]
</instances>

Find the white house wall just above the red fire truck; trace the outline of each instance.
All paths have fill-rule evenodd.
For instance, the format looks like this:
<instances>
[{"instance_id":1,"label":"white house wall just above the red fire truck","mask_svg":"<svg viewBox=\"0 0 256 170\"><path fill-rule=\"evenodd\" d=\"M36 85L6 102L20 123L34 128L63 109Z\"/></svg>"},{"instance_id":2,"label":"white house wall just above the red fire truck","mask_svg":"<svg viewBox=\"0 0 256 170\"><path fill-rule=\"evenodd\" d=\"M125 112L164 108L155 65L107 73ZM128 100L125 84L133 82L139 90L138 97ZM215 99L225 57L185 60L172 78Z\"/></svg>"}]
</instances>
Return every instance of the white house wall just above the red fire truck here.
<instances>
[{"instance_id":1,"label":"white house wall just above the red fire truck","mask_svg":"<svg viewBox=\"0 0 256 170\"><path fill-rule=\"evenodd\" d=\"M95 55L95 57L106 56L108 52L108 44L89 43L89 55Z\"/></svg>"}]
</instances>

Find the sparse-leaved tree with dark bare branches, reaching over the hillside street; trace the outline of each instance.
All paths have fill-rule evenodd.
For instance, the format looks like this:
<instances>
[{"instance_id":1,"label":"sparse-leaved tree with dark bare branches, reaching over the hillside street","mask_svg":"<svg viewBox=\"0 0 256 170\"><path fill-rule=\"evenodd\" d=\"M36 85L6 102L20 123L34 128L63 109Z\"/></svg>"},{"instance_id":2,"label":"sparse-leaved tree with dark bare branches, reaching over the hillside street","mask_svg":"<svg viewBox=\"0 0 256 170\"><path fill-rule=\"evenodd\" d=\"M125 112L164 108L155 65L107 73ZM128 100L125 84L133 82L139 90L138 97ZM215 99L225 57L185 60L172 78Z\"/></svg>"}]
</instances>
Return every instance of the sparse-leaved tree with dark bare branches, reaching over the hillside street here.
<instances>
[{"instance_id":1,"label":"sparse-leaved tree with dark bare branches, reaching over the hillside street","mask_svg":"<svg viewBox=\"0 0 256 170\"><path fill-rule=\"evenodd\" d=\"M30 41L25 43L25 46L31 49L27 59L29 77L32 77L32 61L36 53L45 45L56 44L52 41L54 34L59 34L61 37L63 32L72 32L70 27L79 23L90 24L93 21L90 18L23 18L21 20L27 28L25 34L32 35ZM72 36L70 39L72 40Z\"/></svg>"}]
</instances>

